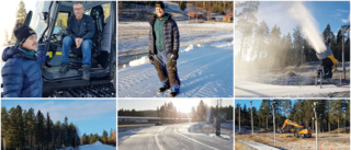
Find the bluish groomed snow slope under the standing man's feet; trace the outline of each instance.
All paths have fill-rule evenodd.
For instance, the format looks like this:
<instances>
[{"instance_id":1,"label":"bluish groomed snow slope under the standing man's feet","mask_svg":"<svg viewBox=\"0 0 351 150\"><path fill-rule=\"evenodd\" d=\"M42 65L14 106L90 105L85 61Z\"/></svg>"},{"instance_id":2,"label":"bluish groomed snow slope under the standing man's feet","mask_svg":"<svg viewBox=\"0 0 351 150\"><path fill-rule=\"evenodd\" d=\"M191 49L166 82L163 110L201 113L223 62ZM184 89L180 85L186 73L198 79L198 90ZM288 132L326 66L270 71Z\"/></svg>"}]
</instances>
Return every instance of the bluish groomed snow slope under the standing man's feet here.
<instances>
[{"instance_id":1,"label":"bluish groomed snow slope under the standing man's feet","mask_svg":"<svg viewBox=\"0 0 351 150\"><path fill-rule=\"evenodd\" d=\"M161 83L148 58L118 69L118 97L168 97L158 93ZM181 48L178 59L181 81L177 97L231 97L234 94L233 38Z\"/></svg>"}]
</instances>

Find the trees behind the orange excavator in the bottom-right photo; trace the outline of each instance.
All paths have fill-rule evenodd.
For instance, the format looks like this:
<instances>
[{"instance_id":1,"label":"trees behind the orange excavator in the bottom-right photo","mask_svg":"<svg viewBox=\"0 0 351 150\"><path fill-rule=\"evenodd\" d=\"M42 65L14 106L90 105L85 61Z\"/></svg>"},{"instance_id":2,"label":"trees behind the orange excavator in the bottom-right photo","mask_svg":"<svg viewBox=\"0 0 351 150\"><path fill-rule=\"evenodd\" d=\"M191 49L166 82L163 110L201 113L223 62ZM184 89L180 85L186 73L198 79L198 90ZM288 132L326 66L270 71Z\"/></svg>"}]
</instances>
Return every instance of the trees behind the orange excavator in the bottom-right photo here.
<instances>
[{"instance_id":1,"label":"trees behind the orange excavator in the bottom-right photo","mask_svg":"<svg viewBox=\"0 0 351 150\"><path fill-rule=\"evenodd\" d=\"M330 131L337 128L350 127L350 101L349 100L262 100L261 106L257 109L252 107L253 126L264 130L273 130L273 108L272 102L275 101L274 115L276 129L282 128L284 120L290 119L305 128L315 129L313 103L318 102L316 107L319 131ZM251 107L238 105L235 108L235 124L251 126ZM287 127L290 128L290 127Z\"/></svg>"}]
</instances>

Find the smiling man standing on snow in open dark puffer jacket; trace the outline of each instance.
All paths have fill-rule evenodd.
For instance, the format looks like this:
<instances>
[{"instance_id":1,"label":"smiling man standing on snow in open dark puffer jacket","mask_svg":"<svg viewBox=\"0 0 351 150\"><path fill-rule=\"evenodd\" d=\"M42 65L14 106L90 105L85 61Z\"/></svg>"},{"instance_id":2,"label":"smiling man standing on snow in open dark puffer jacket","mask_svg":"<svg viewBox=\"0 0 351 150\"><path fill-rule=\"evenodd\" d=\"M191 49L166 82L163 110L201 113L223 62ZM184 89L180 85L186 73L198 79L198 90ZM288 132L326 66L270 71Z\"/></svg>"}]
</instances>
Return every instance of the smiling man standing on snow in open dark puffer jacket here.
<instances>
[{"instance_id":1,"label":"smiling man standing on snow in open dark puffer jacket","mask_svg":"<svg viewBox=\"0 0 351 150\"><path fill-rule=\"evenodd\" d=\"M176 96L180 91L177 59L179 51L179 31L174 20L165 13L163 2L156 2L156 15L150 21L149 59L157 70L163 92L171 88L169 96Z\"/></svg>"}]
</instances>

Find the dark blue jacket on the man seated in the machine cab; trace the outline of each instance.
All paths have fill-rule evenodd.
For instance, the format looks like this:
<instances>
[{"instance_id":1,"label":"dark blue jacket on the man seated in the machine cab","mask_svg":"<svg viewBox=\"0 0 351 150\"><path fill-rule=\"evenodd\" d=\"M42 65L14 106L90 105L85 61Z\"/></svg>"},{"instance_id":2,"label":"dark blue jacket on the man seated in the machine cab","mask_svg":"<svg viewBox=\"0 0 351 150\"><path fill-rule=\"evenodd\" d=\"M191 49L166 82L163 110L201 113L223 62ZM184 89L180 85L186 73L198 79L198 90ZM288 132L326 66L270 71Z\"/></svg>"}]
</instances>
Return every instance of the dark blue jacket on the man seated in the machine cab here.
<instances>
[{"instance_id":1,"label":"dark blue jacket on the man seated in the machine cab","mask_svg":"<svg viewBox=\"0 0 351 150\"><path fill-rule=\"evenodd\" d=\"M76 15L72 15L67 21L67 35L71 37L73 41L76 37L80 37L84 39L91 39L95 33L94 22L91 16L83 14L80 19L80 25L77 24Z\"/></svg>"}]
</instances>

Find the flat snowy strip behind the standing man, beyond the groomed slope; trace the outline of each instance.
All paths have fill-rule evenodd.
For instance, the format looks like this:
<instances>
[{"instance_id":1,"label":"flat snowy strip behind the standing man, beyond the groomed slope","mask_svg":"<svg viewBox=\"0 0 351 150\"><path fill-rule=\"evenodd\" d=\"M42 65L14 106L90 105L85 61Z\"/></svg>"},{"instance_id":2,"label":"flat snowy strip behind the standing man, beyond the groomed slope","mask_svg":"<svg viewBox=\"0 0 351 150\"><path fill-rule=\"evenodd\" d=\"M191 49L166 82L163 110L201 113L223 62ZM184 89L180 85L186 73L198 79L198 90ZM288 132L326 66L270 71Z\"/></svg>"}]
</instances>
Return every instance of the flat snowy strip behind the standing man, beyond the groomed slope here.
<instances>
[{"instance_id":1,"label":"flat snowy strip behind the standing man, beyond the groomed slope","mask_svg":"<svg viewBox=\"0 0 351 150\"><path fill-rule=\"evenodd\" d=\"M233 41L233 23L177 21L177 24L182 48L208 42ZM148 22L118 22L118 56L148 51L149 26Z\"/></svg>"}]
</instances>

